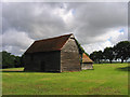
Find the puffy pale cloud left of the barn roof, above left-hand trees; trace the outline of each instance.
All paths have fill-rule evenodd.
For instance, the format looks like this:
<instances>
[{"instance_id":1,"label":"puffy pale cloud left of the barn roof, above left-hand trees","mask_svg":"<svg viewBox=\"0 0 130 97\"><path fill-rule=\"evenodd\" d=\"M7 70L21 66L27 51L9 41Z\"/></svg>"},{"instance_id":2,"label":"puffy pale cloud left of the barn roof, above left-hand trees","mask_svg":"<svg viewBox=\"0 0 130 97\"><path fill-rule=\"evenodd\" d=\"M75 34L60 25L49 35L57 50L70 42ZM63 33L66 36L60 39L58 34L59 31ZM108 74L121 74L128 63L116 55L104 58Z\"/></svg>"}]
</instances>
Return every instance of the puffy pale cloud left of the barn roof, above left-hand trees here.
<instances>
[{"instance_id":1,"label":"puffy pale cloud left of the barn roof, above left-hand trees","mask_svg":"<svg viewBox=\"0 0 130 97\"><path fill-rule=\"evenodd\" d=\"M10 29L2 34L3 51L15 55L23 54L32 42L34 40L28 38L26 32L17 32L15 29Z\"/></svg>"}]
</instances>

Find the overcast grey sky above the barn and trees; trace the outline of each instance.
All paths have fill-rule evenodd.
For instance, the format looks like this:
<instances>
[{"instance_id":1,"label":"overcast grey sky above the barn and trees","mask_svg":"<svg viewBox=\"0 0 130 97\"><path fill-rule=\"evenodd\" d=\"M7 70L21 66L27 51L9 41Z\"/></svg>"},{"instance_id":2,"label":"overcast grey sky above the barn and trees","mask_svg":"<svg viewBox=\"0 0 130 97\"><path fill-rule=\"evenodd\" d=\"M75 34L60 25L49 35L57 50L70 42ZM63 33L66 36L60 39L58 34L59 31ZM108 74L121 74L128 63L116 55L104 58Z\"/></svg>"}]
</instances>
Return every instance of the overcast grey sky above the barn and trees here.
<instances>
[{"instance_id":1,"label":"overcast grey sky above the barn and trees","mask_svg":"<svg viewBox=\"0 0 130 97\"><path fill-rule=\"evenodd\" d=\"M2 50L22 55L39 39L74 33L87 53L128 40L127 2L4 2Z\"/></svg>"}]
</instances>

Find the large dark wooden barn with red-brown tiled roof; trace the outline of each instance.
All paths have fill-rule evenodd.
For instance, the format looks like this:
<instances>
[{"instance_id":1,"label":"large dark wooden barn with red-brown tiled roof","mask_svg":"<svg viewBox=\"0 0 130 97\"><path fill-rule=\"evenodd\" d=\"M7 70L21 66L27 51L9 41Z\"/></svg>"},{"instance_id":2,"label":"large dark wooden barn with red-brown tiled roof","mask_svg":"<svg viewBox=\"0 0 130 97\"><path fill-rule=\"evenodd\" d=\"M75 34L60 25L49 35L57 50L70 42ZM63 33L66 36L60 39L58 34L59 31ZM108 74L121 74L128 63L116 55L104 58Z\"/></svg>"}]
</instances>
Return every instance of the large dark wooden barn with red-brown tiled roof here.
<instances>
[{"instance_id":1,"label":"large dark wooden barn with red-brown tiled roof","mask_svg":"<svg viewBox=\"0 0 130 97\"><path fill-rule=\"evenodd\" d=\"M79 50L74 34L35 41L24 54L25 71L80 71Z\"/></svg>"}]
</instances>

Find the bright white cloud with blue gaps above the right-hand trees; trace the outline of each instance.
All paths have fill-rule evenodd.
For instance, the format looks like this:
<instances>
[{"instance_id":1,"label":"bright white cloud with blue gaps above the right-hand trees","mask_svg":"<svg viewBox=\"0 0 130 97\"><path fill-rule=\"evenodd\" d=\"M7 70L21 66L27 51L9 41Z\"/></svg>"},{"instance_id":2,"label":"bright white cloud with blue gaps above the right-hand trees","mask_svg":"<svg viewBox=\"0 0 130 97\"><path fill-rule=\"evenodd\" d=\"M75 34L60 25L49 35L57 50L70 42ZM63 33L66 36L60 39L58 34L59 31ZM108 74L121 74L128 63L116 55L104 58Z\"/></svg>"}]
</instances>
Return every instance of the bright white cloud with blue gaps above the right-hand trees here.
<instances>
[{"instance_id":1,"label":"bright white cloud with blue gaps above the right-hand trees","mask_svg":"<svg viewBox=\"0 0 130 97\"><path fill-rule=\"evenodd\" d=\"M118 29L113 29L102 36L98 36L96 39L93 41L99 42L83 44L83 48L87 51L87 53L91 54L94 51L103 51L106 46L114 46L117 42L127 40L127 30L125 30L123 32L119 32Z\"/></svg>"}]
</instances>

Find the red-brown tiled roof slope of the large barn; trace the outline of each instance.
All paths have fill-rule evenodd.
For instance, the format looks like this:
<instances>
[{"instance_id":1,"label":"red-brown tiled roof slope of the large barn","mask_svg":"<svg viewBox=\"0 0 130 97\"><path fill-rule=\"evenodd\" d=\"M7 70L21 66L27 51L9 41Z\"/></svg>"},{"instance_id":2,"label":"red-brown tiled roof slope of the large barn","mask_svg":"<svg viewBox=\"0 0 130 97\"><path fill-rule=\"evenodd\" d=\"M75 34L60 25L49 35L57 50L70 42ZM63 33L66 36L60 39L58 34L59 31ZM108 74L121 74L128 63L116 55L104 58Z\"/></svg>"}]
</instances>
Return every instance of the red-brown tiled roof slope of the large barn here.
<instances>
[{"instance_id":1,"label":"red-brown tiled roof slope of the large barn","mask_svg":"<svg viewBox=\"0 0 130 97\"><path fill-rule=\"evenodd\" d=\"M73 33L35 41L25 53L61 51L72 34Z\"/></svg>"}]
</instances>

